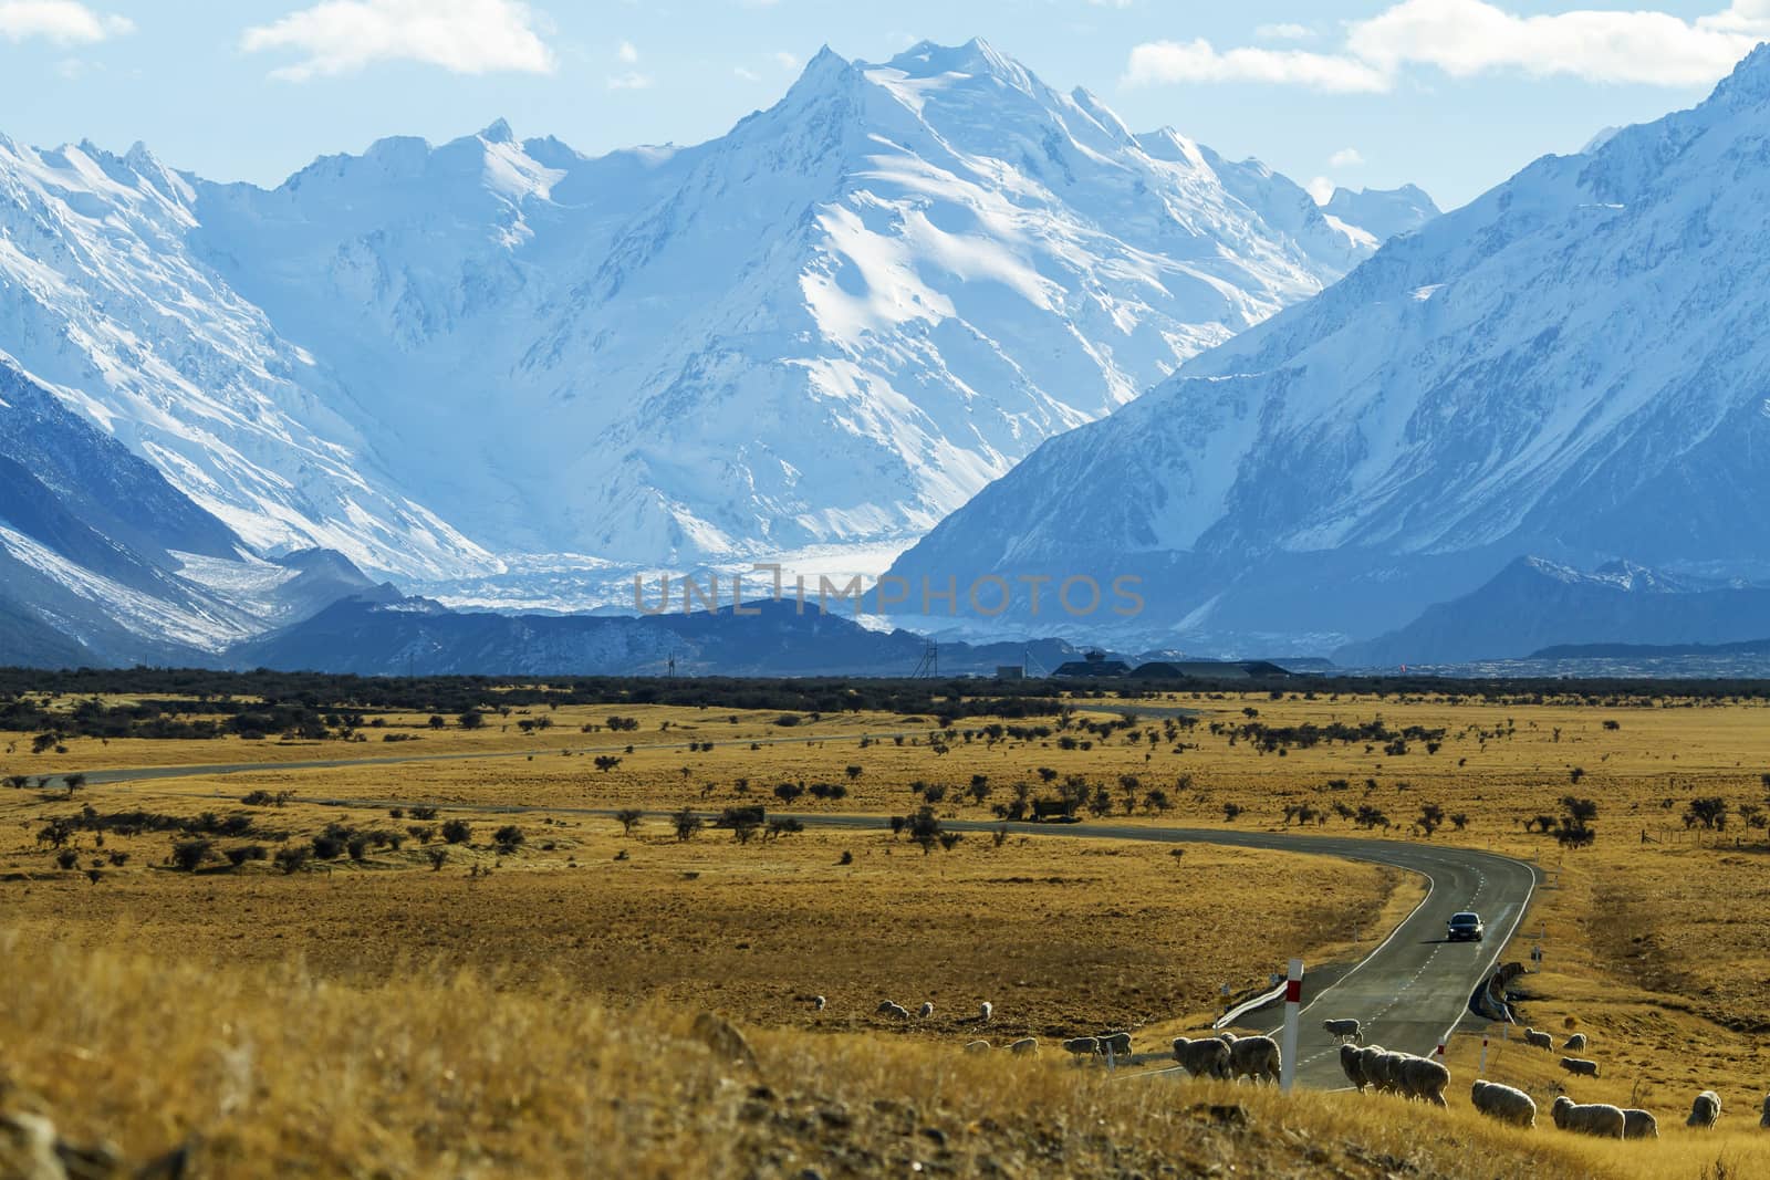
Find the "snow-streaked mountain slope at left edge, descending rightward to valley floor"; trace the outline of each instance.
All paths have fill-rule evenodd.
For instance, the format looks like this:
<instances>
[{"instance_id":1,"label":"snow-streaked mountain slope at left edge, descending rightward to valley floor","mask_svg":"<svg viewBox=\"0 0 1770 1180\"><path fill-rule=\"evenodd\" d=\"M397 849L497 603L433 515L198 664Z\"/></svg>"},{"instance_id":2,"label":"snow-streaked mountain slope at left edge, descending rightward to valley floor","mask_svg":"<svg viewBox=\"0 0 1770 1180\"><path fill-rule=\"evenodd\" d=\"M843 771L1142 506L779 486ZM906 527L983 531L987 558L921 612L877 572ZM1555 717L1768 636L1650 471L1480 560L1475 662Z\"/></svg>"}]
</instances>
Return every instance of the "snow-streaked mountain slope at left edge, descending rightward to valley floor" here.
<instances>
[{"instance_id":1,"label":"snow-streaked mountain slope at left edge, descending rightward to valley floor","mask_svg":"<svg viewBox=\"0 0 1770 1180\"><path fill-rule=\"evenodd\" d=\"M379 474L312 354L193 257L195 200L142 145L0 136L0 349L264 552L492 568Z\"/></svg>"}]
</instances>

